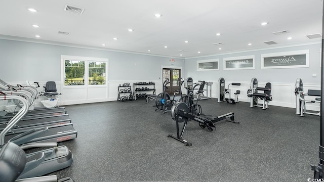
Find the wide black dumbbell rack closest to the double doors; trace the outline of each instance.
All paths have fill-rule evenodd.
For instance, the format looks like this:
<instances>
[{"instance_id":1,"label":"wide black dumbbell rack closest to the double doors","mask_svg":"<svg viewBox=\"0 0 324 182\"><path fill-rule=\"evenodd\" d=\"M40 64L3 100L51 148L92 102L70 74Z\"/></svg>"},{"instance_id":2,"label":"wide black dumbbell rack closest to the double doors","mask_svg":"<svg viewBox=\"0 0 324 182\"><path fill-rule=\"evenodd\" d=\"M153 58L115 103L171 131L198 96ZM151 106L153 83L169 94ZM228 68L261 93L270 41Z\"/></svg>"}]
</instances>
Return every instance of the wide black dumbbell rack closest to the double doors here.
<instances>
[{"instance_id":1,"label":"wide black dumbbell rack closest to the double doors","mask_svg":"<svg viewBox=\"0 0 324 182\"><path fill-rule=\"evenodd\" d=\"M137 82L133 83L134 87L134 100L139 98L146 98L147 95L155 95L155 83L154 82ZM146 89L145 89L146 87ZM143 89L144 88L144 89ZM140 96L142 97L140 97Z\"/></svg>"}]
</instances>

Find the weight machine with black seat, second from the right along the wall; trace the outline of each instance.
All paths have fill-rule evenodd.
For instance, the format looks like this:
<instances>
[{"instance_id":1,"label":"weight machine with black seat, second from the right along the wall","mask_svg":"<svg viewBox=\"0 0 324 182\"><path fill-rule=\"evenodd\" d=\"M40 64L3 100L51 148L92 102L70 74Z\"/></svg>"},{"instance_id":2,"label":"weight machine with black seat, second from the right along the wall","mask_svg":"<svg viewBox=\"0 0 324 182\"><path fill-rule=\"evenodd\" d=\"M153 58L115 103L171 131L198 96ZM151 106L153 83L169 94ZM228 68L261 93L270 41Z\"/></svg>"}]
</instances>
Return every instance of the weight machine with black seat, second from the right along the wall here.
<instances>
[{"instance_id":1,"label":"weight machine with black seat, second from the right along the wall","mask_svg":"<svg viewBox=\"0 0 324 182\"><path fill-rule=\"evenodd\" d=\"M263 90L264 93L258 93L258 90ZM268 102L272 101L271 83L266 83L265 87L258 87L257 78L252 78L250 89L248 89L248 97L250 98L250 107L269 109ZM262 100L262 105L258 104L258 99Z\"/></svg>"}]
</instances>

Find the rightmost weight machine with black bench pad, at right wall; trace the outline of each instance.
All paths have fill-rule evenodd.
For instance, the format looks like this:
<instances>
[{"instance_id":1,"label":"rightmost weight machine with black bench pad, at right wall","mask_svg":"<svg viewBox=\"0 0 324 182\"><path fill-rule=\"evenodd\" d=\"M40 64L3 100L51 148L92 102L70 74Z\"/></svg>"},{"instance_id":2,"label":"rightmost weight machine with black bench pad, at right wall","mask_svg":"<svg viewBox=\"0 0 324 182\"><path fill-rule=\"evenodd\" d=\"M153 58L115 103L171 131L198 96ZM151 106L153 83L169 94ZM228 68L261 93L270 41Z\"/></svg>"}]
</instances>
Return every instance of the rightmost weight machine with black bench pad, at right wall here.
<instances>
[{"instance_id":1,"label":"rightmost weight machine with black bench pad, at right wall","mask_svg":"<svg viewBox=\"0 0 324 182\"><path fill-rule=\"evenodd\" d=\"M305 116L304 114L312 114L320 116L320 112L307 112L306 104L310 103L320 103L320 90L309 89L307 90L307 94L304 94L303 81L301 78L297 78L296 87L295 87L295 95L296 95L296 114L300 114L300 116ZM311 100L311 97L316 97L315 100ZM307 99L306 99L307 98Z\"/></svg>"}]
</instances>

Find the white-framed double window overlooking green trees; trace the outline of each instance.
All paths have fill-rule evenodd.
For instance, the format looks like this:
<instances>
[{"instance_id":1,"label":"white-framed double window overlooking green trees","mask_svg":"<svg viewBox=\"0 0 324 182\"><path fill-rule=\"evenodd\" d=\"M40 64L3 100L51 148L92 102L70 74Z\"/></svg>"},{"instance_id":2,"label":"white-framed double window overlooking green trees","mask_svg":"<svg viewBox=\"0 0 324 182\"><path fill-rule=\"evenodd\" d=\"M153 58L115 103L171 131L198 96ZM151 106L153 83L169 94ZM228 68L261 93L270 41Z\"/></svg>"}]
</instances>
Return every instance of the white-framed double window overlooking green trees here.
<instances>
[{"instance_id":1,"label":"white-framed double window overlooking green trees","mask_svg":"<svg viewBox=\"0 0 324 182\"><path fill-rule=\"evenodd\" d=\"M108 59L63 56L64 85L106 85Z\"/></svg>"}]
</instances>

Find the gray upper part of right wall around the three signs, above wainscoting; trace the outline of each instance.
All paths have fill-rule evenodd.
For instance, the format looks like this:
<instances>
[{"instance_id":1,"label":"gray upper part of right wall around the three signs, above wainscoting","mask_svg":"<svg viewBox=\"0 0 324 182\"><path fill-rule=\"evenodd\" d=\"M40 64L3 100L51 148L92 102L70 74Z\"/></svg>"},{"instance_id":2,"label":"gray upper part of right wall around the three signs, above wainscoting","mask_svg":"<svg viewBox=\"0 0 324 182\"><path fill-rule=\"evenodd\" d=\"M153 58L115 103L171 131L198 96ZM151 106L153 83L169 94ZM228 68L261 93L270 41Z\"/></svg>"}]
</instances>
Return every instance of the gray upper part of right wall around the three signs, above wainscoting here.
<instances>
[{"instance_id":1,"label":"gray upper part of right wall around the three signs, above wainscoting","mask_svg":"<svg viewBox=\"0 0 324 182\"><path fill-rule=\"evenodd\" d=\"M260 82L294 83L298 77L302 78L304 83L320 83L320 47L319 43L310 45L301 45L289 48L269 49L261 51L250 51L244 53L235 53L228 55L210 56L204 58L186 59L186 76L194 80L218 80L224 77L231 81L250 81L256 77ZM308 68L280 68L280 69L261 69L261 54L278 53L309 50ZM255 55L255 69L252 70L223 70L223 58ZM196 71L196 61L207 59L219 59L218 71ZM315 73L316 77L312 77Z\"/></svg>"}]
</instances>

